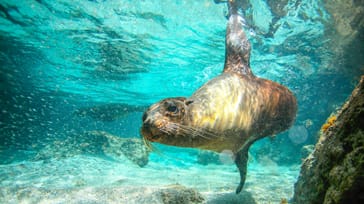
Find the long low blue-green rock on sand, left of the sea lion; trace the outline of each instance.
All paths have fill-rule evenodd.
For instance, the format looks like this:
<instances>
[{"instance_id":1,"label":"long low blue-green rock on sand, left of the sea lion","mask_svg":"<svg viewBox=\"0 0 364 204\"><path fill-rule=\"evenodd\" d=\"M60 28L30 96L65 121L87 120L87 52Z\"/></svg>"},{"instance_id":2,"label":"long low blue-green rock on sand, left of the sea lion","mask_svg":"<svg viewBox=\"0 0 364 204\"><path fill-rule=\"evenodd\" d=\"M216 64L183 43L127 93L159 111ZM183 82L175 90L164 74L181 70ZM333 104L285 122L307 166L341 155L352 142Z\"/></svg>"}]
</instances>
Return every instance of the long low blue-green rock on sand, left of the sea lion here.
<instances>
[{"instance_id":1,"label":"long low blue-green rock on sand, left of the sea lion","mask_svg":"<svg viewBox=\"0 0 364 204\"><path fill-rule=\"evenodd\" d=\"M104 131L87 131L54 141L44 147L33 160L62 159L78 154L106 156L116 160L125 156L140 167L149 161L149 150L141 139L121 138Z\"/></svg>"}]
</instances>

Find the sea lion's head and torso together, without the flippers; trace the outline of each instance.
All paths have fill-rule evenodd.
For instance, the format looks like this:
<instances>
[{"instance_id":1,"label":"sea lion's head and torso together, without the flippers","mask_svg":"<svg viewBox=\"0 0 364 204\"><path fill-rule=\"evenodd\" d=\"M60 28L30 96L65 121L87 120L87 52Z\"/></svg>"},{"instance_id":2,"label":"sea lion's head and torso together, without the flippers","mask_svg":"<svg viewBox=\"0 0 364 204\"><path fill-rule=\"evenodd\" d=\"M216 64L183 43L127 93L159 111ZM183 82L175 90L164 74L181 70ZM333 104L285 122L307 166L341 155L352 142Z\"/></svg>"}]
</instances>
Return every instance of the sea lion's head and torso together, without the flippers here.
<instances>
[{"instance_id":1,"label":"sea lion's head and torso together, without the flippers","mask_svg":"<svg viewBox=\"0 0 364 204\"><path fill-rule=\"evenodd\" d=\"M167 109L178 102L184 104L177 107L183 116L171 122ZM190 98L168 98L153 105L144 115L151 124L144 124L142 135L167 145L237 153L255 140L290 127L296 108L293 94L278 83L223 73ZM169 129L169 134L160 127L149 134L155 124Z\"/></svg>"}]
</instances>

